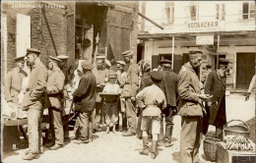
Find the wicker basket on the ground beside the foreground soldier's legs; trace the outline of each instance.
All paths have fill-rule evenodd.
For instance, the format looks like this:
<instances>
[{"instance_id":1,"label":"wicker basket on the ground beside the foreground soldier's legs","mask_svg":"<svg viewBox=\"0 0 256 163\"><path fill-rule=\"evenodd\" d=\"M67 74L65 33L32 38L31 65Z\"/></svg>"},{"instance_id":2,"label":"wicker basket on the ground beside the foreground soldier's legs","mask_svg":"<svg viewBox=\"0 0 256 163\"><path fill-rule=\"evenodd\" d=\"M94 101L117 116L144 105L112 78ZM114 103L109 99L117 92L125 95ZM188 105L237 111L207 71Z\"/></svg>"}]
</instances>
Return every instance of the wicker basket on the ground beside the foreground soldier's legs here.
<instances>
[{"instance_id":1,"label":"wicker basket on the ground beside the foreground soldier's legs","mask_svg":"<svg viewBox=\"0 0 256 163\"><path fill-rule=\"evenodd\" d=\"M204 139L204 152L206 158L210 161L216 161L217 158L217 144L220 142L221 139L214 138L214 137L205 137Z\"/></svg>"}]
</instances>

